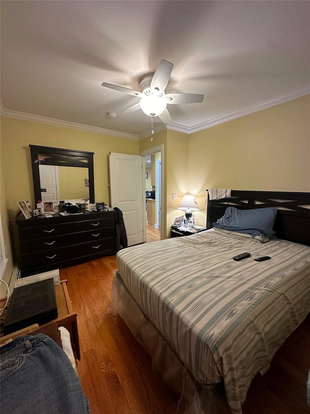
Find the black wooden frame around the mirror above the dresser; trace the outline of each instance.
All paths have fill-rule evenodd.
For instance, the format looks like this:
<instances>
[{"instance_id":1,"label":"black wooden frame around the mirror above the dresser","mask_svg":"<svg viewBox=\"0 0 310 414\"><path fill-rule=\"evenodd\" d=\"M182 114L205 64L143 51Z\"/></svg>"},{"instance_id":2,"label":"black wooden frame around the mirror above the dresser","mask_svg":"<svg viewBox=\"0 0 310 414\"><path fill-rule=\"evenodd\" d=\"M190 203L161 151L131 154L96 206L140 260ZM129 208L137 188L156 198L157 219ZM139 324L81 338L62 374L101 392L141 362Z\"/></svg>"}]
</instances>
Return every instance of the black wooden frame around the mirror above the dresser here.
<instances>
[{"instance_id":1,"label":"black wooden frame around the mirror above the dresser","mask_svg":"<svg viewBox=\"0 0 310 414\"><path fill-rule=\"evenodd\" d=\"M94 176L93 176L93 154L94 152L88 151L78 151L75 149L63 149L63 148L52 148L52 147L41 147L38 145L29 145L31 151L31 167L32 167L32 179L33 179L33 190L34 190L34 201L41 200L41 184L40 184L40 172L39 172L39 153L45 154L58 154L58 155L67 155L67 156L76 156L87 158L88 163L85 163L85 168L88 168L88 178L89 178L89 199L90 203L95 202L94 194ZM42 163L43 164L43 163ZM53 162L53 164L44 163L45 165L63 165L61 163ZM76 165L70 162L66 166L75 167ZM80 167L83 167L80 165Z\"/></svg>"}]
</instances>

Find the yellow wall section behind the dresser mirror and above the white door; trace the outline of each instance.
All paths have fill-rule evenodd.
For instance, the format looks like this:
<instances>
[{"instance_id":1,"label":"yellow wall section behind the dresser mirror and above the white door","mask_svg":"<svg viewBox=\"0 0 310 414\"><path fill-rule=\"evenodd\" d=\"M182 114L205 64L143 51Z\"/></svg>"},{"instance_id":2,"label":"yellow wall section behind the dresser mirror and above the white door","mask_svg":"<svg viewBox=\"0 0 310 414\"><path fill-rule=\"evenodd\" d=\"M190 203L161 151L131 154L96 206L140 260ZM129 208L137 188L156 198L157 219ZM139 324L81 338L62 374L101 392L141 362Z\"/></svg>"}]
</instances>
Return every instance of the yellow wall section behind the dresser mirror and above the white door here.
<instances>
[{"instance_id":1,"label":"yellow wall section behind the dresser mirror and above the white door","mask_svg":"<svg viewBox=\"0 0 310 414\"><path fill-rule=\"evenodd\" d=\"M13 257L18 254L15 218L19 209L16 202L30 200L32 206L35 202L29 144L94 152L95 200L107 204L109 152L139 154L138 140L1 117L1 219L10 258L5 276L12 273L11 246Z\"/></svg>"}]
</instances>

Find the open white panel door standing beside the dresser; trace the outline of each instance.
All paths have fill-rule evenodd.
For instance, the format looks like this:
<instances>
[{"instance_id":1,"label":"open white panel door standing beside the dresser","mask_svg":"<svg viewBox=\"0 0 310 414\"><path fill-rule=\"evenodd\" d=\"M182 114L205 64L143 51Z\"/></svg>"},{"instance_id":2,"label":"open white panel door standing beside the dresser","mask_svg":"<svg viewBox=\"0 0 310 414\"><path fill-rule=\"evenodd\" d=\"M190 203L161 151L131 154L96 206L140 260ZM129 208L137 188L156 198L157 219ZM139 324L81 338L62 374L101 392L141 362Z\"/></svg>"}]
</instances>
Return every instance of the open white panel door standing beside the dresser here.
<instances>
[{"instance_id":1,"label":"open white panel door standing beside the dresser","mask_svg":"<svg viewBox=\"0 0 310 414\"><path fill-rule=\"evenodd\" d=\"M109 154L111 207L122 213L128 246L146 241L145 166L140 155Z\"/></svg>"}]
</instances>

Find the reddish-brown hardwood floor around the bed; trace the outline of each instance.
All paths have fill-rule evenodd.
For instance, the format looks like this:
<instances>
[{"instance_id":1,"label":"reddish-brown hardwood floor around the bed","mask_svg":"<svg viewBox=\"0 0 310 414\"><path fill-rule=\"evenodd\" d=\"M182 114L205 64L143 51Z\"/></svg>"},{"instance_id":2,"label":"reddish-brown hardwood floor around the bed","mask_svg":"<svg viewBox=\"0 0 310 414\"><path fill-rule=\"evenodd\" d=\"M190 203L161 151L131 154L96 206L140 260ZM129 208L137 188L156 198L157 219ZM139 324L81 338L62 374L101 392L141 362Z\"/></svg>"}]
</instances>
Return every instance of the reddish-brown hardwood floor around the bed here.
<instances>
[{"instance_id":1,"label":"reddish-brown hardwood floor around the bed","mask_svg":"<svg viewBox=\"0 0 310 414\"><path fill-rule=\"evenodd\" d=\"M150 357L123 320L113 314L110 289L115 269L115 256L108 256L60 270L78 313L78 374L91 414L175 413L177 397L152 370ZM309 369L308 316L280 348L267 374L252 382L243 414L310 413Z\"/></svg>"}]
</instances>

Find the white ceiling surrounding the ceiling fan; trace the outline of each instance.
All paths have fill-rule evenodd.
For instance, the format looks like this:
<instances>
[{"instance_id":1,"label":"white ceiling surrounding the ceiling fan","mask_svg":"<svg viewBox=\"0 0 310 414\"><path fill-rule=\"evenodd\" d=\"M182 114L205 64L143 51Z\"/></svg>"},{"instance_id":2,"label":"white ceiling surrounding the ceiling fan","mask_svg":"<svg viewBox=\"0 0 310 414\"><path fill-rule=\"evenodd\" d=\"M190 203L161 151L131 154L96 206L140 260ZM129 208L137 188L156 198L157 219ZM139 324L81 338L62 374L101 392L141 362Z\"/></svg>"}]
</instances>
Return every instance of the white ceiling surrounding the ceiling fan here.
<instances>
[{"instance_id":1,"label":"white ceiling surrounding the ceiling fan","mask_svg":"<svg viewBox=\"0 0 310 414\"><path fill-rule=\"evenodd\" d=\"M1 112L150 133L139 90L161 59L171 129L193 132L310 92L310 1L1 1ZM12 112L16 111L16 112ZM117 115L109 119L108 113ZM33 117L34 116L34 117ZM44 117L44 118L38 118ZM155 128L163 127L155 118ZM117 133L116 133L117 134Z\"/></svg>"}]
</instances>

